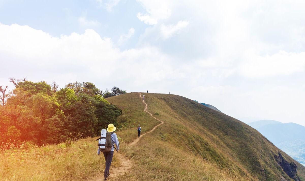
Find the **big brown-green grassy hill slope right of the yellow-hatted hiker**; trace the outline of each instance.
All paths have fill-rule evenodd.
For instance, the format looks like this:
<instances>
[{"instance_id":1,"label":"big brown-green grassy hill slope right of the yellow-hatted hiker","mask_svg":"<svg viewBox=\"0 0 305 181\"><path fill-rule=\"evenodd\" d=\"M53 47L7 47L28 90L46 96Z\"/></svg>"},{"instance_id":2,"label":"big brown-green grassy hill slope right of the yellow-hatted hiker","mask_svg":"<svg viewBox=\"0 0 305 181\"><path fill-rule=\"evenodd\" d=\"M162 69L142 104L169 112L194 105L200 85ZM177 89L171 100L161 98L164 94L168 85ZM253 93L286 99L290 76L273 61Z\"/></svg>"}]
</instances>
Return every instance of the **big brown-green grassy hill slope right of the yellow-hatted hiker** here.
<instances>
[{"instance_id":1,"label":"big brown-green grassy hill slope right of the yellow-hatted hiker","mask_svg":"<svg viewBox=\"0 0 305 181\"><path fill-rule=\"evenodd\" d=\"M138 102L138 93L107 100L121 107L121 117L132 123L127 127L133 127L134 130L118 132L124 142L129 143L130 137L136 137L137 124L143 130L150 126L146 123L143 125L137 114L128 111L134 104L141 104ZM164 124L145 135L135 147L122 146L122 151L134 159L137 166L117 180L135 175L141 175L136 177L140 180L197 180L203 179L204 175L205 178L221 180L219 174L206 175L211 168L213 171L220 169L221 174L233 180L305 178L305 168L301 164L241 121L177 95L145 93L145 101L148 111L163 120ZM119 122L124 124L122 118L119 118ZM152 120L152 124L157 123ZM188 162L188 165L191 164L188 167L181 165L181 162L190 160L193 161ZM203 162L198 164L199 160ZM217 176L218 179L215 179Z\"/></svg>"}]
</instances>

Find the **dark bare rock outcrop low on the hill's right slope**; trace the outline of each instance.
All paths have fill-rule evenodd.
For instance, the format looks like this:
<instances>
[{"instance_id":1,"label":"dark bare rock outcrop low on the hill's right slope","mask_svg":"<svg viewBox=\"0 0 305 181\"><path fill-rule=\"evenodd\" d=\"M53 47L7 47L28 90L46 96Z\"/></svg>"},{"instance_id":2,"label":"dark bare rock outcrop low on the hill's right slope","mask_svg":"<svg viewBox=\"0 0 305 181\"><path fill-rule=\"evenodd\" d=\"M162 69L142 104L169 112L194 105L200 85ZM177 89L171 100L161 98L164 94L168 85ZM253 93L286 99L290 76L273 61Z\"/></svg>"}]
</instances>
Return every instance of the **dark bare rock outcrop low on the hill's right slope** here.
<instances>
[{"instance_id":1,"label":"dark bare rock outcrop low on the hill's right slope","mask_svg":"<svg viewBox=\"0 0 305 181\"><path fill-rule=\"evenodd\" d=\"M300 178L296 175L296 163L294 162L288 162L285 160L285 158L282 156L280 152L278 152L278 155L274 155L274 158L279 166L282 167L284 172L295 181L301 181Z\"/></svg>"}]
</instances>

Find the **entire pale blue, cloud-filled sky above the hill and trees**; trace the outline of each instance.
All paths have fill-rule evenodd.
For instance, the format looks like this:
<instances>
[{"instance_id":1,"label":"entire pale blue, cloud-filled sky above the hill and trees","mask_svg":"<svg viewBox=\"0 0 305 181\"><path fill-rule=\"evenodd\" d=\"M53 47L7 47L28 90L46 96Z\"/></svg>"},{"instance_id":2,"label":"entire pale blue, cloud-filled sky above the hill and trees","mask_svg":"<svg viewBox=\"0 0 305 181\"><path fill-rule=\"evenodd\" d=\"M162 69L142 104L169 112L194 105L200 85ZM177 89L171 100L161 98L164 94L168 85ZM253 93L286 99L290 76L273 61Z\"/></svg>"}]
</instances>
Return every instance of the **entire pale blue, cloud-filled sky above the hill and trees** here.
<instances>
[{"instance_id":1,"label":"entire pale blue, cloud-filled sky above the hill and trees","mask_svg":"<svg viewBox=\"0 0 305 181\"><path fill-rule=\"evenodd\" d=\"M0 85L90 81L305 126L305 1L0 0Z\"/></svg>"}]
</instances>

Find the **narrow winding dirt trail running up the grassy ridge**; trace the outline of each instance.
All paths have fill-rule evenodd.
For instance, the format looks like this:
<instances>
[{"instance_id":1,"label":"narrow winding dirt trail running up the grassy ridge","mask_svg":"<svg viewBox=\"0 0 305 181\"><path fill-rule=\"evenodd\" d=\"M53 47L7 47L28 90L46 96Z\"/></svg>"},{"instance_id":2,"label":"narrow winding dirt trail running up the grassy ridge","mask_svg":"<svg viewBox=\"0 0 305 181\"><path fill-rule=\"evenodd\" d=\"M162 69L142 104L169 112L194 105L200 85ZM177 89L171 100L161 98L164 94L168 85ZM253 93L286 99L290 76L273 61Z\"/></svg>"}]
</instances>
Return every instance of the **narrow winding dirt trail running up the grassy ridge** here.
<instances>
[{"instance_id":1,"label":"narrow winding dirt trail running up the grassy ridge","mask_svg":"<svg viewBox=\"0 0 305 181\"><path fill-rule=\"evenodd\" d=\"M142 94L140 92L139 92L139 94L140 94L140 97L142 99ZM160 121L160 124L153 127L149 132L143 133L139 138L136 138L135 140L133 140L129 145L134 145L135 143L137 143L142 138L142 136L146 135L147 133L153 132L158 126L160 126L164 123L163 121L157 119L150 112L147 111L147 104L145 103L144 99L143 99L143 103L145 104L144 111L147 112L148 114L150 114L150 116L152 118L155 118L156 120ZM125 157L123 154L116 153L116 157L117 157L118 160L120 160L120 165L121 166L119 166L117 168L114 168L114 169L110 169L109 179L115 178L117 176L120 176L120 175L123 175L123 174L129 172L129 170L132 168L132 165L133 165L133 162L129 158ZM98 178L91 179L91 181L100 181L100 180L103 180L103 179L104 179L104 176L100 175Z\"/></svg>"}]
</instances>

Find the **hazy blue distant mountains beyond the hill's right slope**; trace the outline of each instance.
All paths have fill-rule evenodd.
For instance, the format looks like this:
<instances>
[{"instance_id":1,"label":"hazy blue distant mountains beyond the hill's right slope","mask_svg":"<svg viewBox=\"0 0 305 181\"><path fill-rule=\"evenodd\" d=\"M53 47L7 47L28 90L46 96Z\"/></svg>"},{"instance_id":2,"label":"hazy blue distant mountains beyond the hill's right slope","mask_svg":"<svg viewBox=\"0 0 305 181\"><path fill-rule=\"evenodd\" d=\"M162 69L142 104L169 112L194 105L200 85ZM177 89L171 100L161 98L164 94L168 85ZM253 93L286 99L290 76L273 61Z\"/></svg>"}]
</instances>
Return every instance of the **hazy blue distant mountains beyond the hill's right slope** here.
<instances>
[{"instance_id":1,"label":"hazy blue distant mountains beyond the hill's right slope","mask_svg":"<svg viewBox=\"0 0 305 181\"><path fill-rule=\"evenodd\" d=\"M260 120L249 123L296 161L305 165L305 127L296 123Z\"/></svg>"}]
</instances>

